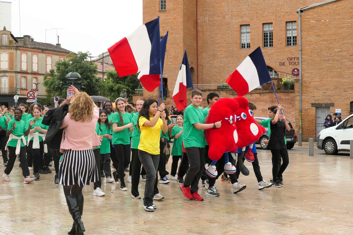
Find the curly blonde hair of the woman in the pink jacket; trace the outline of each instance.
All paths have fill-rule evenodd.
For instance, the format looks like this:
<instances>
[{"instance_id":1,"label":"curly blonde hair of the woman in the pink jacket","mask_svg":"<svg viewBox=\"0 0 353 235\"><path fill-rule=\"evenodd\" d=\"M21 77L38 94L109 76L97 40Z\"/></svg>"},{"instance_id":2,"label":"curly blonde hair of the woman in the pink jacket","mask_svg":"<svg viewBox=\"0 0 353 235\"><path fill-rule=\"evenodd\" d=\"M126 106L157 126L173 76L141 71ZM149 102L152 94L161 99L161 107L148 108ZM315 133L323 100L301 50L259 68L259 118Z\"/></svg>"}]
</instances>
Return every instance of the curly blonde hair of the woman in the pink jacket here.
<instances>
[{"instance_id":1,"label":"curly blonde hair of the woman in the pink jacket","mask_svg":"<svg viewBox=\"0 0 353 235\"><path fill-rule=\"evenodd\" d=\"M76 122L89 122L93 118L93 100L86 92L76 93L68 107L70 119Z\"/></svg>"}]
</instances>

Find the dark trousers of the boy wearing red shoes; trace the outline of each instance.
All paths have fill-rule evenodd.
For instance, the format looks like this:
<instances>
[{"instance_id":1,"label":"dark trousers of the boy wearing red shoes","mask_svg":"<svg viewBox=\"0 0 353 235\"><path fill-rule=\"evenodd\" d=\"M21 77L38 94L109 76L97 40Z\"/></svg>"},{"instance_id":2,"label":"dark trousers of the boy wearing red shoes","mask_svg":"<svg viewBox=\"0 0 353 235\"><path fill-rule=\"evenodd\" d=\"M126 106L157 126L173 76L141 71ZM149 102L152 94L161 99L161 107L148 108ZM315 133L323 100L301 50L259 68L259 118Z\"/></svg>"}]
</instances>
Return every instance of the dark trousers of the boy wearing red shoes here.
<instances>
[{"instance_id":1,"label":"dark trousers of the boy wearing red shoes","mask_svg":"<svg viewBox=\"0 0 353 235\"><path fill-rule=\"evenodd\" d=\"M189 187L191 193L198 191L198 183L205 166L205 148L187 147L185 148L189 158L189 170L184 179L184 187Z\"/></svg>"}]
</instances>

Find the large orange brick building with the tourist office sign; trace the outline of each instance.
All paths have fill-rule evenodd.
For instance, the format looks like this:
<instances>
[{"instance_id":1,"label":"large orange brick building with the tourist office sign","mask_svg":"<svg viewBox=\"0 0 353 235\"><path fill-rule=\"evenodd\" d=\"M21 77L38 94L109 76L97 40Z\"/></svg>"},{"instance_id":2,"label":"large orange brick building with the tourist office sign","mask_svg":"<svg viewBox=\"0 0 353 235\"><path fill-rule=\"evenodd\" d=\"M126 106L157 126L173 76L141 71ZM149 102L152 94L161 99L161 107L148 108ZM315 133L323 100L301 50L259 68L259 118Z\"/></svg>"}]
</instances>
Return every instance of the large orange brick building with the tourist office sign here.
<instances>
[{"instance_id":1,"label":"large orange brick building with the tourist office sign","mask_svg":"<svg viewBox=\"0 0 353 235\"><path fill-rule=\"evenodd\" d=\"M322 129L317 112L325 112L325 116L341 109L343 118L353 113L353 0L270 0L265 4L255 0L143 1L143 22L157 16L161 37L169 30L163 81L170 96L184 50L194 86L202 89L204 98L209 92L234 97L235 91L223 82L260 46L285 114L303 139L315 138ZM292 75L293 69L300 68L299 31L301 117L300 76ZM294 90L283 90L280 81L285 76L294 80ZM144 90L143 96L156 98L158 91ZM267 116L267 107L277 104L270 84L245 97L256 104L256 116ZM165 103L174 104L171 97ZM203 106L207 106L205 99Z\"/></svg>"}]
</instances>

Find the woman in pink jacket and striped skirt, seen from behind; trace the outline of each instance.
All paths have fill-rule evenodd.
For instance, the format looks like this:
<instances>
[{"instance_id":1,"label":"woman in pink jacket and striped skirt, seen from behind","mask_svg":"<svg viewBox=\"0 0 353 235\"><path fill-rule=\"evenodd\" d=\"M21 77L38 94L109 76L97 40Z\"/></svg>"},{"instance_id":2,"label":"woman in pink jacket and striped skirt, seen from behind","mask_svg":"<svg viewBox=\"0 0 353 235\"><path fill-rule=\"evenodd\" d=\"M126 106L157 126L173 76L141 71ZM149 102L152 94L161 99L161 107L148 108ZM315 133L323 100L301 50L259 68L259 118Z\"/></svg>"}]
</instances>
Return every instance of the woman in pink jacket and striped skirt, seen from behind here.
<instances>
[{"instance_id":1,"label":"woman in pink jacket and striped skirt, seen from behind","mask_svg":"<svg viewBox=\"0 0 353 235\"><path fill-rule=\"evenodd\" d=\"M68 234L83 234L85 228L81 221L83 211L84 185L98 181L98 171L92 149L100 145L95 132L99 109L85 92L79 92L70 86L69 92L75 95L71 100L68 113L60 129L65 128L60 144L63 153L59 170L59 182L64 187L64 194L69 212L74 220Z\"/></svg>"}]
</instances>

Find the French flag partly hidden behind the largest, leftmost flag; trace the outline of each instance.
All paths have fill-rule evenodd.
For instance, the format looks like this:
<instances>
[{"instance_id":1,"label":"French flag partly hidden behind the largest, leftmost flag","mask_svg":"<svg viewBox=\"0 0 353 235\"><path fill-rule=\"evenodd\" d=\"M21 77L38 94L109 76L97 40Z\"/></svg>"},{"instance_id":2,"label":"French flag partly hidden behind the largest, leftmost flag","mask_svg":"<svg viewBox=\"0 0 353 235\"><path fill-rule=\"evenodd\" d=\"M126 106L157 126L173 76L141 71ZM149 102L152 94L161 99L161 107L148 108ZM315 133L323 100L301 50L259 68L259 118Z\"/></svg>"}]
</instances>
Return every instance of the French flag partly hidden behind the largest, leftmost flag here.
<instances>
[{"instance_id":1,"label":"French flag partly hidden behind the largest, leftmost flag","mask_svg":"<svg viewBox=\"0 0 353 235\"><path fill-rule=\"evenodd\" d=\"M167 34L162 38L160 42L160 55L162 60L162 73L164 67L164 57L166 56L168 31ZM154 91L158 86L161 85L161 66L160 63L153 64L149 68L142 70L137 77L142 86L149 92Z\"/></svg>"}]
</instances>

